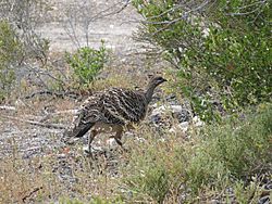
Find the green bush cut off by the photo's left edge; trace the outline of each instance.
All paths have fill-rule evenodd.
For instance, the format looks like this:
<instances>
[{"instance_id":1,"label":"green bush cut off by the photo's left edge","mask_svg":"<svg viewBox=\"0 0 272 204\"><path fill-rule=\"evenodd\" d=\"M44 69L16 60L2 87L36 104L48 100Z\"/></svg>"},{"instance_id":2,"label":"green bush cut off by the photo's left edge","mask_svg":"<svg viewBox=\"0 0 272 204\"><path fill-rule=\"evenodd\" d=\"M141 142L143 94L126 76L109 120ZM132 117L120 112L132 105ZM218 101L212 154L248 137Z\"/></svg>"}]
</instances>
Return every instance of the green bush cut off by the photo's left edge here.
<instances>
[{"instance_id":1,"label":"green bush cut off by the photo's left edge","mask_svg":"<svg viewBox=\"0 0 272 204\"><path fill-rule=\"evenodd\" d=\"M5 21L0 21L0 101L5 99L15 80L14 66L22 60L22 42Z\"/></svg>"}]
</instances>

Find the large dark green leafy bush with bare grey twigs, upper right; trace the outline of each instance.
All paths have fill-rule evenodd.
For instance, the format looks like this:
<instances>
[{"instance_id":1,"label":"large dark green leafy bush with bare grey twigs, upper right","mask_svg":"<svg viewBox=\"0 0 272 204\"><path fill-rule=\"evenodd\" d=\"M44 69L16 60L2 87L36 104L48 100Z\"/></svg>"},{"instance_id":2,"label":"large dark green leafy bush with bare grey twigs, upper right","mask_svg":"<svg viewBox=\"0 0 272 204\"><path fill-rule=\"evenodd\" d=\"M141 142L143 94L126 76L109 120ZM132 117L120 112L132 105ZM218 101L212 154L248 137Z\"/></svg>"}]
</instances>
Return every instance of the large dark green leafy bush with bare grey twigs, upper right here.
<instances>
[{"instance_id":1,"label":"large dark green leafy bush with bare grey twigs, upper right","mask_svg":"<svg viewBox=\"0 0 272 204\"><path fill-rule=\"evenodd\" d=\"M144 1L141 40L165 50L203 119L271 100L271 1Z\"/></svg>"}]
</instances>

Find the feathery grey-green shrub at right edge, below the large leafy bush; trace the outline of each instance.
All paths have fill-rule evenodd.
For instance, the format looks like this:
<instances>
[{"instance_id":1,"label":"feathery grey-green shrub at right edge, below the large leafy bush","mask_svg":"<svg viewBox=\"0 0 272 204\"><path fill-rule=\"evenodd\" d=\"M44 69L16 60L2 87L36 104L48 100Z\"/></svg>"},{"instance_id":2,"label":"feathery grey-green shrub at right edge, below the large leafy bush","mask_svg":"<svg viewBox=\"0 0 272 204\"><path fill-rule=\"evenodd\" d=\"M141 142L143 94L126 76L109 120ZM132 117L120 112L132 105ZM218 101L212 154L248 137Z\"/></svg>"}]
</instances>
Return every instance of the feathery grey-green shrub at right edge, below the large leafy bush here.
<instances>
[{"instance_id":1,"label":"feathery grey-green shrub at right edge, below the large leafy bush","mask_svg":"<svg viewBox=\"0 0 272 204\"><path fill-rule=\"evenodd\" d=\"M230 178L247 183L272 164L272 105L223 123L205 128L194 148L187 176L195 190L203 184L222 188Z\"/></svg>"}]
</instances>

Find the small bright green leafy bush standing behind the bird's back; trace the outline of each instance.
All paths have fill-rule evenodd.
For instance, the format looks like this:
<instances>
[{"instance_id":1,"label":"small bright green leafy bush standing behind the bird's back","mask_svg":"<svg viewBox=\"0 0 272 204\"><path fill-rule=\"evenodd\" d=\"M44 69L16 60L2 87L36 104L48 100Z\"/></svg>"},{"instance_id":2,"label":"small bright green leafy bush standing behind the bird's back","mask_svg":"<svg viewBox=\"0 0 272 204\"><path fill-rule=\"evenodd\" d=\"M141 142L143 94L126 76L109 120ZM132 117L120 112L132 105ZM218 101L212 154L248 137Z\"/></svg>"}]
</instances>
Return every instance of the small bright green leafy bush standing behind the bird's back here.
<instances>
[{"instance_id":1,"label":"small bright green leafy bush standing behind the bird's back","mask_svg":"<svg viewBox=\"0 0 272 204\"><path fill-rule=\"evenodd\" d=\"M95 50L89 47L78 49L74 54L66 53L66 62L73 68L74 78L79 86L92 82L107 61L104 44Z\"/></svg>"}]
</instances>

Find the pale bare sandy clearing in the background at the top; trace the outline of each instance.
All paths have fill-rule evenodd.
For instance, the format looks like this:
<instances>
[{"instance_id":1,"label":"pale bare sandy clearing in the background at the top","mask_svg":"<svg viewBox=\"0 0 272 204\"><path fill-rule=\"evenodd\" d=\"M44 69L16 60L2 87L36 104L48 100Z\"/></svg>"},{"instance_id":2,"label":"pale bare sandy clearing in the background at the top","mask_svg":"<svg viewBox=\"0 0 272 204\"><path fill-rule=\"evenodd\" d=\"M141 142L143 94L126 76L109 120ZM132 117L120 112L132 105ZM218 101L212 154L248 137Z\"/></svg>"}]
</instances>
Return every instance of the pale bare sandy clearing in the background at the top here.
<instances>
[{"instance_id":1,"label":"pale bare sandy clearing in the background at the top","mask_svg":"<svg viewBox=\"0 0 272 204\"><path fill-rule=\"evenodd\" d=\"M52 0L52 11L46 16L46 23L38 28L41 36L50 40L51 51L72 51L78 46L87 46L86 31L82 26L86 18L90 20L88 46L98 48L101 40L104 40L107 48L111 48L113 52L120 54L137 48L137 42L132 39L132 34L137 29L140 16L132 5L124 8L126 4L124 0L83 2ZM124 9L122 10L122 8ZM99 18L97 18L98 16ZM77 24L74 24L75 36L79 44L76 44L67 34L72 33L67 25L71 22Z\"/></svg>"}]
</instances>

